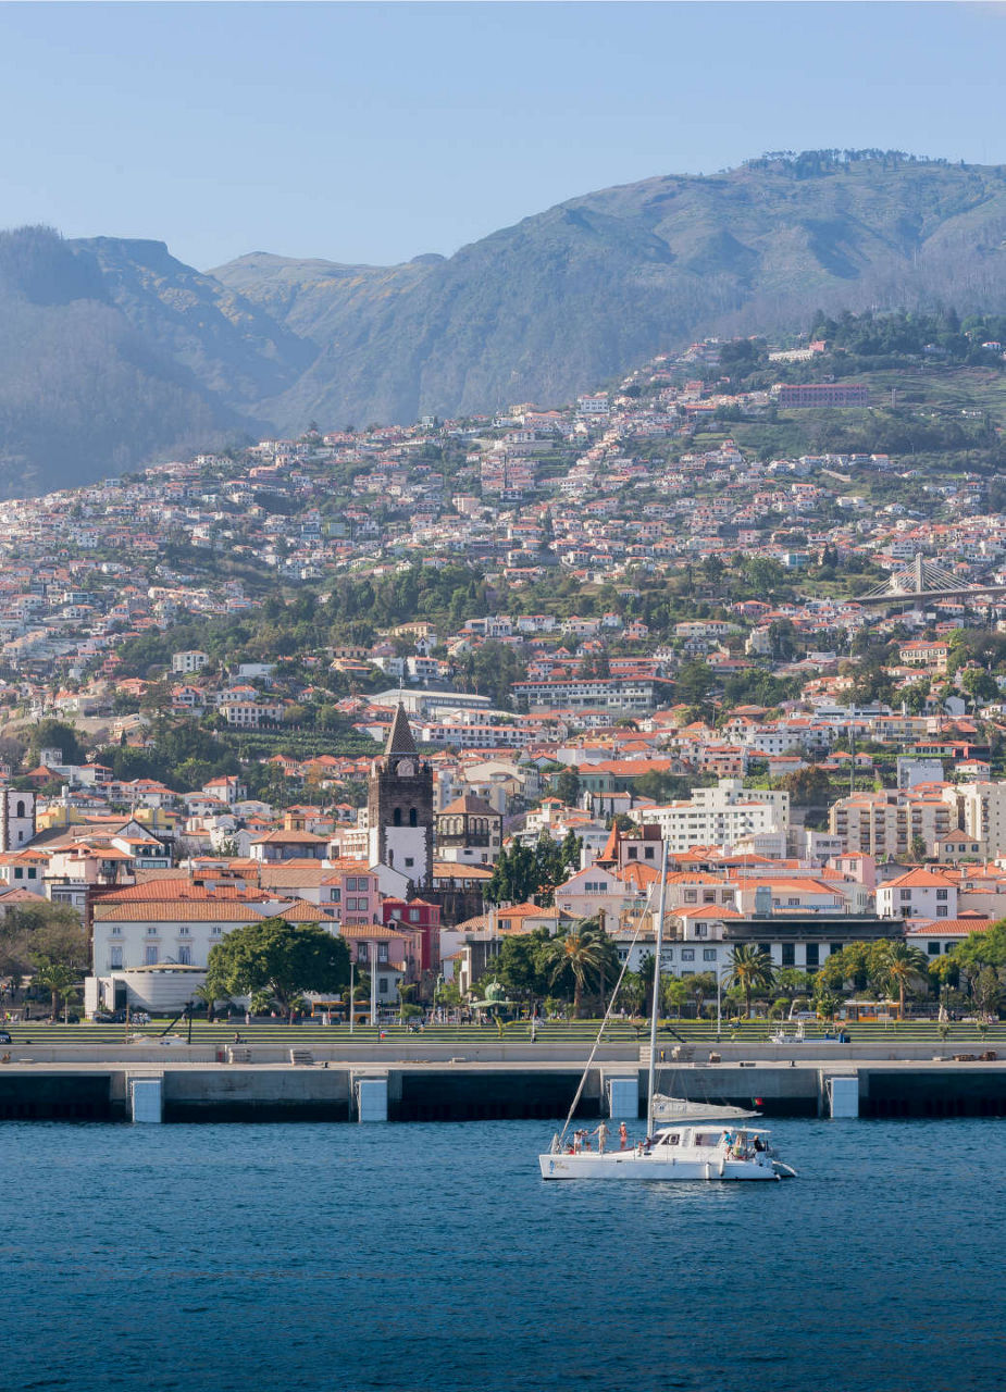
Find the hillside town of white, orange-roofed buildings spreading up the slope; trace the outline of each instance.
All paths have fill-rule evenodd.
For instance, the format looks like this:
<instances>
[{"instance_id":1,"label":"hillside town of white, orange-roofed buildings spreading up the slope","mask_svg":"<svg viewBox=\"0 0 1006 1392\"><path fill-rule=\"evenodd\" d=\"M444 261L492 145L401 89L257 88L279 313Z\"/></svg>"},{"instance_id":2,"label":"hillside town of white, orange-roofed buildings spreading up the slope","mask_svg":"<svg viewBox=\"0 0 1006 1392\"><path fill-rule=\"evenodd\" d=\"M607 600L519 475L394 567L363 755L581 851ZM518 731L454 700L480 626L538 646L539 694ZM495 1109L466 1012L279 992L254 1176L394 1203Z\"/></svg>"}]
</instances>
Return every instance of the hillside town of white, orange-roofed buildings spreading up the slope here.
<instances>
[{"instance_id":1,"label":"hillside town of white, orange-roofed buildings spreading up the slope","mask_svg":"<svg viewBox=\"0 0 1006 1392\"><path fill-rule=\"evenodd\" d=\"M639 977L665 863L698 1002L742 947L793 997L878 942L959 988L1006 916L1002 476L753 448L870 390L799 380L825 338L768 390L739 354L0 504L0 909L81 915L88 1013L274 916L381 1009L584 922Z\"/></svg>"}]
</instances>

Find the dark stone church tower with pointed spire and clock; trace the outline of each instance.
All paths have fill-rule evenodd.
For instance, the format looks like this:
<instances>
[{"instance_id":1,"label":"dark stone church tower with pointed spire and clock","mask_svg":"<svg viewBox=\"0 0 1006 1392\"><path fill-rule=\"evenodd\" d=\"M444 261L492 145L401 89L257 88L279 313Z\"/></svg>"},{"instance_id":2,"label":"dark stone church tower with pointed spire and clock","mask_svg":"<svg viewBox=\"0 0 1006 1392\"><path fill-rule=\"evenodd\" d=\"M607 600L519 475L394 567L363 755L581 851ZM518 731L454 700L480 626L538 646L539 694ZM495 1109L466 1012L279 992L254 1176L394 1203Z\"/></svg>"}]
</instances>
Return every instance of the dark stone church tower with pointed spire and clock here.
<instances>
[{"instance_id":1,"label":"dark stone church tower with pointed spire and clock","mask_svg":"<svg viewBox=\"0 0 1006 1392\"><path fill-rule=\"evenodd\" d=\"M433 768L419 759L401 706L381 759L370 766L370 864L391 866L416 889L433 884Z\"/></svg>"}]
</instances>

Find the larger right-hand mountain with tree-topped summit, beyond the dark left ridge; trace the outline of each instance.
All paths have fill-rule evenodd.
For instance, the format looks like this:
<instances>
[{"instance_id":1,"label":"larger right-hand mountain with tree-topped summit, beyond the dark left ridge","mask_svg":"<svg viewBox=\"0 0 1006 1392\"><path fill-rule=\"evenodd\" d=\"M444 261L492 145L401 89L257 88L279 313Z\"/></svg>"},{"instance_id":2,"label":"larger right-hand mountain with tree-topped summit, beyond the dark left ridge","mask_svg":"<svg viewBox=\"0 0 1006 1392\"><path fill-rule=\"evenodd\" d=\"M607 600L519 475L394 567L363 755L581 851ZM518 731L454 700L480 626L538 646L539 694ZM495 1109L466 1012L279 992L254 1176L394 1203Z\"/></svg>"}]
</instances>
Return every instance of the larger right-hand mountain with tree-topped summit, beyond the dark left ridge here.
<instances>
[{"instance_id":1,"label":"larger right-hand mountain with tree-topped summit, beyond the dark left ridge","mask_svg":"<svg viewBox=\"0 0 1006 1392\"><path fill-rule=\"evenodd\" d=\"M815 308L999 308L1006 168L838 152L589 193L390 269L242 258L211 274L317 344L262 402L305 420L413 420L566 401L701 333Z\"/></svg>"}]
</instances>

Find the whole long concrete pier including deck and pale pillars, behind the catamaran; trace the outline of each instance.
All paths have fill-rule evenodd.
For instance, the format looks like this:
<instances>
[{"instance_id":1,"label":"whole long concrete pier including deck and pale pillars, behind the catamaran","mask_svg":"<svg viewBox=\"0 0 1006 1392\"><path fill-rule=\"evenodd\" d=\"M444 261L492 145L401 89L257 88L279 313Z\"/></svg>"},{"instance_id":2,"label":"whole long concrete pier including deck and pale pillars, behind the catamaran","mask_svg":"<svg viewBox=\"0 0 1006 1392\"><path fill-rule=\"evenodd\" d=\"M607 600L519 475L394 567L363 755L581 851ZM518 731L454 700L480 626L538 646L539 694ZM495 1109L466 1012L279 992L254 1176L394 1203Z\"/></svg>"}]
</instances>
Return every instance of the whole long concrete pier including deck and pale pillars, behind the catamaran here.
<instances>
[{"instance_id":1,"label":"whole long concrete pier including deck and pale pillars, behind the catamaran","mask_svg":"<svg viewBox=\"0 0 1006 1392\"><path fill-rule=\"evenodd\" d=\"M846 1114L864 1118L1006 1116L1006 1062L980 1058L981 1045L968 1050L957 1043L953 1052L913 1045L899 1051L910 1057L891 1057L885 1050L881 1058L870 1058L864 1047L854 1057L852 1048L697 1048L693 1057L665 1059L657 1083L669 1096L754 1107L768 1118L831 1115L829 1079L832 1093L839 1080ZM81 1058L82 1052L88 1057ZM154 1077L160 1080L160 1115L168 1123L552 1119L566 1115L586 1054L577 1045L395 1044L387 1050L372 1044L316 1048L291 1063L288 1051L269 1047L249 1047L239 1061L217 1062L213 1050L199 1045L125 1051L24 1045L0 1066L0 1119L131 1119L135 1082ZM362 1090L362 1083L380 1086ZM577 1115L630 1121L639 1118L644 1093L639 1047L602 1048Z\"/></svg>"}]
</instances>

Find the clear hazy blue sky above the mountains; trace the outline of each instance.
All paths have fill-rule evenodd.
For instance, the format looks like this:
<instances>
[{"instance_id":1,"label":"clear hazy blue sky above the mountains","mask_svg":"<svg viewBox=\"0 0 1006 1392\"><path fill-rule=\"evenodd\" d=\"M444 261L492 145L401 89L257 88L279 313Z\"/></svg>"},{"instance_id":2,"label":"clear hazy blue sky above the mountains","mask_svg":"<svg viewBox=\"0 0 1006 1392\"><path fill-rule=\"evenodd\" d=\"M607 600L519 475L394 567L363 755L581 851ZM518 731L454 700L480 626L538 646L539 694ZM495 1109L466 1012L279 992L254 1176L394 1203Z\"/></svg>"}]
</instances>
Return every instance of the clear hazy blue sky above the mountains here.
<instances>
[{"instance_id":1,"label":"clear hazy blue sky above the mountains","mask_svg":"<svg viewBox=\"0 0 1006 1392\"><path fill-rule=\"evenodd\" d=\"M1006 6L0 4L0 226L451 253L768 149L1006 163Z\"/></svg>"}]
</instances>

